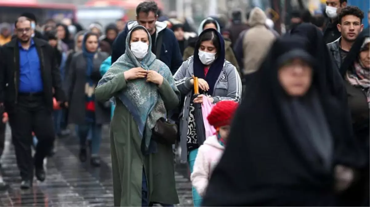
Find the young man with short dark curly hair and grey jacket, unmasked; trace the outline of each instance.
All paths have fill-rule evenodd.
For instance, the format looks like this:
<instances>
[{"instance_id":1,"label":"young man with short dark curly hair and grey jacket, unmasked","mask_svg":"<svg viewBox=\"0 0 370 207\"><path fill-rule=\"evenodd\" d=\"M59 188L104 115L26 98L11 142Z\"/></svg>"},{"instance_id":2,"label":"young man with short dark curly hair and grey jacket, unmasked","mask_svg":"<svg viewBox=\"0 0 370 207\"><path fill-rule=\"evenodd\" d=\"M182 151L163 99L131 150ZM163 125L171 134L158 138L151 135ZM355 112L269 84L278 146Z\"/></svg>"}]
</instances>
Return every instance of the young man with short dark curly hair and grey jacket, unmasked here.
<instances>
[{"instance_id":1,"label":"young man with short dark curly hair and grey jacket, unmasked","mask_svg":"<svg viewBox=\"0 0 370 207\"><path fill-rule=\"evenodd\" d=\"M339 14L337 29L341 36L334 42L327 44L330 53L333 55L333 65L340 68L344 58L351 49L354 41L364 25L362 19L364 12L359 7L348 6L342 9Z\"/></svg>"}]
</instances>

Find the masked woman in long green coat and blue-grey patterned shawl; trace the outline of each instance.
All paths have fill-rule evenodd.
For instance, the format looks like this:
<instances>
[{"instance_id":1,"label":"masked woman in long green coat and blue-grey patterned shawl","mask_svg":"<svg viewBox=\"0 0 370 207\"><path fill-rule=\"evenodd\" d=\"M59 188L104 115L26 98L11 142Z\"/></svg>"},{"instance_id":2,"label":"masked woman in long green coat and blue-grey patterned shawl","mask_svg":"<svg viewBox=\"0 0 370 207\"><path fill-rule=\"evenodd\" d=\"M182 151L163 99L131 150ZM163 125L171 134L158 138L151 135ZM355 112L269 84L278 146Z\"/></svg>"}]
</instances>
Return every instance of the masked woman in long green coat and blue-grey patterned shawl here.
<instances>
[{"instance_id":1,"label":"masked woman in long green coat and blue-grey patterned shawl","mask_svg":"<svg viewBox=\"0 0 370 207\"><path fill-rule=\"evenodd\" d=\"M151 136L157 120L179 105L180 94L151 44L144 27L132 28L125 54L95 90L97 100L113 97L116 102L110 134L115 207L179 203L172 145L157 143Z\"/></svg>"}]
</instances>

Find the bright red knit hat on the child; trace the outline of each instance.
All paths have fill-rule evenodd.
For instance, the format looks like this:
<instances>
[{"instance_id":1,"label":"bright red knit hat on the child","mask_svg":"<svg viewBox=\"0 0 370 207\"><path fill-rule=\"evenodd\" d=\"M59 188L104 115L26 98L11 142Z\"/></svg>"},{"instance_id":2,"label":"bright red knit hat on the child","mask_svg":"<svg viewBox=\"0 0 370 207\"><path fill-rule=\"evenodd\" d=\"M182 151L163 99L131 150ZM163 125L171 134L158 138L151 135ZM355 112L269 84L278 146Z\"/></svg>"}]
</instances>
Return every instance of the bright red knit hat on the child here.
<instances>
[{"instance_id":1,"label":"bright red knit hat on the child","mask_svg":"<svg viewBox=\"0 0 370 207\"><path fill-rule=\"evenodd\" d=\"M220 101L216 103L207 117L208 123L215 127L215 129L230 125L238 106L239 104L235 101Z\"/></svg>"}]
</instances>

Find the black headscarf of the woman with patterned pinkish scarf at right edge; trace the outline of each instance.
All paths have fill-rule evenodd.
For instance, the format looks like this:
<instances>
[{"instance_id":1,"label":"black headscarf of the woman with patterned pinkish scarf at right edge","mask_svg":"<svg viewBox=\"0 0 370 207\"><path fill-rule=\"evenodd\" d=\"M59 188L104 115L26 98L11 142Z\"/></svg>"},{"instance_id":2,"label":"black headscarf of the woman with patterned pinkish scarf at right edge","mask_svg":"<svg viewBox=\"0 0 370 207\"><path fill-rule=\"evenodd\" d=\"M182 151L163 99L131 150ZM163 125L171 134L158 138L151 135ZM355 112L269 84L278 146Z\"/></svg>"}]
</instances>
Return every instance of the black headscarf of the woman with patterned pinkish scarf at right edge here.
<instances>
[{"instance_id":1,"label":"black headscarf of the woman with patterned pinkish scarf at right edge","mask_svg":"<svg viewBox=\"0 0 370 207\"><path fill-rule=\"evenodd\" d=\"M356 41L353 43L350 51L348 52L346 58L343 60L342 66L340 66L340 74L342 77L346 74L347 70L353 68L353 64L359 58L359 53L361 52L361 46L365 38L370 37L370 28L364 29L359 36L356 38Z\"/></svg>"}]
</instances>

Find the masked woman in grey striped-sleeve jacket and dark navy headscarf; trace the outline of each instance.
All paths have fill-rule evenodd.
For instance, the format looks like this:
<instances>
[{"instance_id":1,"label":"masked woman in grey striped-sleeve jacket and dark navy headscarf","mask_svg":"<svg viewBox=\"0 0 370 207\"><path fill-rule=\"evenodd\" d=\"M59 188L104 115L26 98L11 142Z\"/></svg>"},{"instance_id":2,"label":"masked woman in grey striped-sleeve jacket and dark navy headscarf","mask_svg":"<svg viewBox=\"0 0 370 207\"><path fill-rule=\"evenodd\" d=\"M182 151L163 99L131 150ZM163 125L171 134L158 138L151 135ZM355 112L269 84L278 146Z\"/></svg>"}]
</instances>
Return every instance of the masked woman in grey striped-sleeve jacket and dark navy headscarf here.
<instances>
[{"instance_id":1,"label":"masked woman in grey striped-sleeve jacket and dark navy headscarf","mask_svg":"<svg viewBox=\"0 0 370 207\"><path fill-rule=\"evenodd\" d=\"M198 141L194 121L193 103L202 103L204 95L212 103L223 100L240 101L242 83L236 67L225 60L225 41L215 29L205 29L195 44L194 56L182 63L175 73L176 85L185 97L184 108L180 119L181 159L188 161L190 171L194 165L198 152ZM194 95L194 80L199 78L201 95L192 99ZM201 197L193 188L194 206L201 206Z\"/></svg>"}]
</instances>

